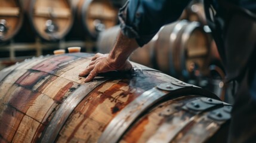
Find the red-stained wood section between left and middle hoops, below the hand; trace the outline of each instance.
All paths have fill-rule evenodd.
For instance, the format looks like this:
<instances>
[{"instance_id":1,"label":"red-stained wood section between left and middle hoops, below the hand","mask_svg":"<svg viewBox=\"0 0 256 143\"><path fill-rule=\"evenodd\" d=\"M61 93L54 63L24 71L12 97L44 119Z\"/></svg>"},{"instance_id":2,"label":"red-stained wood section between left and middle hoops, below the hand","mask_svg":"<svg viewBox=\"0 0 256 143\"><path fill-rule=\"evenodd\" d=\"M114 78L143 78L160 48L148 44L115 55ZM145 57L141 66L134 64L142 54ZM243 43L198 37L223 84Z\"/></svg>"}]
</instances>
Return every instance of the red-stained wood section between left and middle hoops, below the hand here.
<instances>
[{"instance_id":1,"label":"red-stained wood section between left and middle hoops, below the hand","mask_svg":"<svg viewBox=\"0 0 256 143\"><path fill-rule=\"evenodd\" d=\"M61 130L58 142L65 140L68 142L96 142L107 123L122 108L143 94L144 91L155 87L158 83L165 82L165 80L168 79L165 76L162 77L158 72L141 71L136 73L136 76L132 77L130 81L113 80L98 86L75 108ZM150 81L154 82L149 83Z\"/></svg>"}]
</instances>

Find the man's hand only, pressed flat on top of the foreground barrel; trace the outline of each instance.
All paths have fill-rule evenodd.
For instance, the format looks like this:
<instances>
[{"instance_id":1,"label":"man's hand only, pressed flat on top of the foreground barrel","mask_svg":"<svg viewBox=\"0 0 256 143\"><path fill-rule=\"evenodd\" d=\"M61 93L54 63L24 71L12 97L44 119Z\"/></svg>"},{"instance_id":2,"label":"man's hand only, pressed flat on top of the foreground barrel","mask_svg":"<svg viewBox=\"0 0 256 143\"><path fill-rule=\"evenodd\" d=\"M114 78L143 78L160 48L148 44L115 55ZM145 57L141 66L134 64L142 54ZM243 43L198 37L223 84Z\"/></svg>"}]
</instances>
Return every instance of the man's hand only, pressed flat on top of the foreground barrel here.
<instances>
[{"instance_id":1,"label":"man's hand only, pressed flat on top of the foreground barrel","mask_svg":"<svg viewBox=\"0 0 256 143\"><path fill-rule=\"evenodd\" d=\"M79 73L79 76L88 76L85 79L85 82L90 82L94 79L98 73L105 73L107 71L119 70L119 71L127 71L132 68L131 63L128 60L125 61L113 61L109 54L100 54L97 53L92 58L89 66Z\"/></svg>"}]
</instances>

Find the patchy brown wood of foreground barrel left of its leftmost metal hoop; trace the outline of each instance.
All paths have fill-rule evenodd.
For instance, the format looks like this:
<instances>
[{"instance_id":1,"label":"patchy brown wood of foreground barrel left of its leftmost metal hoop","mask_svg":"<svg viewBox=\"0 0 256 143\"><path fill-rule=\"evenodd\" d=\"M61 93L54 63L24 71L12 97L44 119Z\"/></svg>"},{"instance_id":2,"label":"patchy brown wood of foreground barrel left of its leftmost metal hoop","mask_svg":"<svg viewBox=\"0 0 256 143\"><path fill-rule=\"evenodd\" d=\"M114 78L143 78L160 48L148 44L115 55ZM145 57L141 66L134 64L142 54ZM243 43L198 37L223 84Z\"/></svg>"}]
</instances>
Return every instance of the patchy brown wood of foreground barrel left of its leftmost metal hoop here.
<instances>
[{"instance_id":1,"label":"patchy brown wood of foreground barrel left of its leftmost metal hoop","mask_svg":"<svg viewBox=\"0 0 256 143\"><path fill-rule=\"evenodd\" d=\"M8 74L1 74L4 76L0 83L1 117L6 116L5 111L17 113L17 116L0 123L10 130L7 132L8 137L1 133L4 141L37 141L41 134L38 132L45 128L44 124L49 122L55 108L79 87L77 82L54 75L55 71L68 66L76 59L79 57L73 55L40 57L1 71L8 71ZM78 74L77 72L75 74ZM16 126L6 126L12 124ZM33 130L25 125L33 125ZM2 126L0 129L3 128ZM27 133L24 133L24 130Z\"/></svg>"}]
</instances>

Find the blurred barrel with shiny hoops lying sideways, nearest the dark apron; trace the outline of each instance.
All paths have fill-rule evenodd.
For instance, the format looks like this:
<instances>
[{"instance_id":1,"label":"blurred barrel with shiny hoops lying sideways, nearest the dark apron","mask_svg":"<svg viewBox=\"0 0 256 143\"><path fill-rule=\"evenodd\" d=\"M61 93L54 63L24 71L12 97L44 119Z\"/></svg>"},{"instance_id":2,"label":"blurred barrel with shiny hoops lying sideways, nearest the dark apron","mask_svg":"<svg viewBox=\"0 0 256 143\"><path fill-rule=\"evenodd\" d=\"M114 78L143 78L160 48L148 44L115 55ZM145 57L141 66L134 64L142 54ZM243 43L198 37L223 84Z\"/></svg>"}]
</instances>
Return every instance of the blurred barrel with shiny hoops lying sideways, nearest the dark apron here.
<instances>
[{"instance_id":1,"label":"blurred barrel with shiny hoops lying sideways, nearest the dark apron","mask_svg":"<svg viewBox=\"0 0 256 143\"><path fill-rule=\"evenodd\" d=\"M165 26L155 46L158 69L183 79L195 71L196 74L206 73L210 42L208 34L196 21L181 20Z\"/></svg>"}]
</instances>

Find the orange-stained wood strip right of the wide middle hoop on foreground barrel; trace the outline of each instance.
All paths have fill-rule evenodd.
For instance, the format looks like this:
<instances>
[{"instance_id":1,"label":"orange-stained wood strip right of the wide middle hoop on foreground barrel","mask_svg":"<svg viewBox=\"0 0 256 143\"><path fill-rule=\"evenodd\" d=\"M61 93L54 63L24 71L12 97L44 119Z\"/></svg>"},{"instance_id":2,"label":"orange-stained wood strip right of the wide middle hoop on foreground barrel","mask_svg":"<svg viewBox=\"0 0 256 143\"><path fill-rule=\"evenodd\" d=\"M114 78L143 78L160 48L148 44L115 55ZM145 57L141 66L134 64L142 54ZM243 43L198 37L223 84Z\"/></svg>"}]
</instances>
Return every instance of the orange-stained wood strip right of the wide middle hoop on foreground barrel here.
<instances>
[{"instance_id":1,"label":"orange-stained wood strip right of the wide middle hoop on foreground barrel","mask_svg":"<svg viewBox=\"0 0 256 143\"><path fill-rule=\"evenodd\" d=\"M174 100L166 101L152 108L152 110L147 111L147 113L125 133L121 142L147 142L150 137L155 135L162 123L165 122L167 116L180 111L179 109L193 98L195 97L175 98ZM161 141L164 141L163 138L161 139Z\"/></svg>"}]
</instances>

